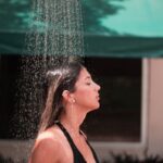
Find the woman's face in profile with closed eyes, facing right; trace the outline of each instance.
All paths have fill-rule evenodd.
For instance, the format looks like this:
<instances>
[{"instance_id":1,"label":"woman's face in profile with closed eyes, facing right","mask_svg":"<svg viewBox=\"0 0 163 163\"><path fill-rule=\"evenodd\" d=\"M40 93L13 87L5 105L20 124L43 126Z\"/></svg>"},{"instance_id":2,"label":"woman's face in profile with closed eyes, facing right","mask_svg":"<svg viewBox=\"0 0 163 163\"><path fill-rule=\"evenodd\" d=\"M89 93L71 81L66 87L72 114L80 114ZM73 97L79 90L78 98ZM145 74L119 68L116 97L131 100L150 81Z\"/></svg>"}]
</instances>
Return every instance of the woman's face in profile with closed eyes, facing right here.
<instances>
[{"instance_id":1,"label":"woman's face in profile with closed eyes, facing right","mask_svg":"<svg viewBox=\"0 0 163 163\"><path fill-rule=\"evenodd\" d=\"M92 80L89 72L83 68L75 84L75 91L73 92L75 104L88 111L98 109L100 106L99 90L100 86Z\"/></svg>"}]
</instances>

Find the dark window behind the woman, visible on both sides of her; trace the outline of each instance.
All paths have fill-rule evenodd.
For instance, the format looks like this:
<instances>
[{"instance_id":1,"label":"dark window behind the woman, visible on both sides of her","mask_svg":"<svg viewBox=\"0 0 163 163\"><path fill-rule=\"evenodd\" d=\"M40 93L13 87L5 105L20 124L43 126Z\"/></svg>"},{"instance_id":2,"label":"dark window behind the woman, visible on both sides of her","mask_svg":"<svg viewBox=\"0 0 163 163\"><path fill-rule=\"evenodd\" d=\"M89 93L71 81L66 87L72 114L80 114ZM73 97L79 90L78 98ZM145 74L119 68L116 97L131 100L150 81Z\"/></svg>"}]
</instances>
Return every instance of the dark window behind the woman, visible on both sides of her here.
<instances>
[{"instance_id":1,"label":"dark window behind the woman, visible on both sides of her","mask_svg":"<svg viewBox=\"0 0 163 163\"><path fill-rule=\"evenodd\" d=\"M15 108L20 73L18 55L0 58L0 138L12 138L11 118ZM88 114L84 129L95 141L140 141L141 60L86 58L93 79L101 86L101 106Z\"/></svg>"}]
</instances>

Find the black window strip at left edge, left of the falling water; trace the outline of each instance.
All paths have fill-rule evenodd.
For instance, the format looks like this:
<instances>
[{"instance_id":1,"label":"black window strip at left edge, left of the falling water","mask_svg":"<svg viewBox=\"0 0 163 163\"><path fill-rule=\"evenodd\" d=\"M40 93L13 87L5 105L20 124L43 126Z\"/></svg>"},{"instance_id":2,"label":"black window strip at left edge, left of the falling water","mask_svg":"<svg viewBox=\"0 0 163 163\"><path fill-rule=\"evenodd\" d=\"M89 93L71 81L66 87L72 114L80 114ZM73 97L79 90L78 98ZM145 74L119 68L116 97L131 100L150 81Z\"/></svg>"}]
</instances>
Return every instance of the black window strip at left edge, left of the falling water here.
<instances>
[{"instance_id":1,"label":"black window strip at left edge, left of the falling water","mask_svg":"<svg viewBox=\"0 0 163 163\"><path fill-rule=\"evenodd\" d=\"M15 109L18 57L0 57L0 139L9 139L11 118Z\"/></svg>"}]
</instances>

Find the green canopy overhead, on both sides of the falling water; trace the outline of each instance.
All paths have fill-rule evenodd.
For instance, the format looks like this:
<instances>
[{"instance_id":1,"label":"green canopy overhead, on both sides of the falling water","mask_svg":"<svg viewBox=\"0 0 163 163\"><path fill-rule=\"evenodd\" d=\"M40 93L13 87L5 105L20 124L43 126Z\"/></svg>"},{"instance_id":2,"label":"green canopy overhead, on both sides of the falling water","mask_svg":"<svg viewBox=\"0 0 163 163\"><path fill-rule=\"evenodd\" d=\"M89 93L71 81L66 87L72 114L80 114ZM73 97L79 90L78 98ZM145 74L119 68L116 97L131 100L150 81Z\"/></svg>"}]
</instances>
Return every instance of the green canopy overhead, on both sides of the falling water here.
<instances>
[{"instance_id":1,"label":"green canopy overhead, on both sides of the falling water","mask_svg":"<svg viewBox=\"0 0 163 163\"><path fill-rule=\"evenodd\" d=\"M163 1L83 0L85 54L163 57ZM0 54L22 54L32 0L0 0Z\"/></svg>"}]
</instances>

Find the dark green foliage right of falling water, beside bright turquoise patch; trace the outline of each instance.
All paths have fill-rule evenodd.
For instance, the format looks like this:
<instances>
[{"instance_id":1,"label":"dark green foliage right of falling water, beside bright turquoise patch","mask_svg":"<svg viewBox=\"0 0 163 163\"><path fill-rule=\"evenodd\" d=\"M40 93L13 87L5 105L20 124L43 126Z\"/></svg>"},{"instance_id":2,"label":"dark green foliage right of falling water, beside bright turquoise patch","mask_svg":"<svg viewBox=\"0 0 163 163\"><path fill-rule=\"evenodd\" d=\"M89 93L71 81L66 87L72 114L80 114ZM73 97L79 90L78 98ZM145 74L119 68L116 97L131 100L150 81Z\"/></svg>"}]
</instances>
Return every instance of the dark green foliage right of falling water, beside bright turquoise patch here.
<instances>
[{"instance_id":1,"label":"dark green foliage right of falling water, beside bright turquoise patch","mask_svg":"<svg viewBox=\"0 0 163 163\"><path fill-rule=\"evenodd\" d=\"M125 0L114 0L114 2L123 2ZM109 29L101 24L101 20L117 14L124 8L113 4L112 0L83 0L84 26L86 33L101 33L117 35L115 30Z\"/></svg>"}]
</instances>

